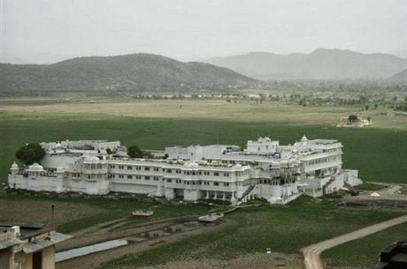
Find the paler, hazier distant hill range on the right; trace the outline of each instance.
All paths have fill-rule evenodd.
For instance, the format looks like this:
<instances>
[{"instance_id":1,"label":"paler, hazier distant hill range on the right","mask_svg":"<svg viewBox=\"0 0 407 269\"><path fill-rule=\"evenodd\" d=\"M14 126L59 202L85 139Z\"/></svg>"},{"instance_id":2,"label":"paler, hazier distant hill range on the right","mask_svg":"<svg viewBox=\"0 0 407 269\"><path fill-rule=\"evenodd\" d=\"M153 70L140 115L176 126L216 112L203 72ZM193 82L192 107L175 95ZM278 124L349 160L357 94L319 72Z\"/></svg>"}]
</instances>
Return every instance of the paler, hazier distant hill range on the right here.
<instances>
[{"instance_id":1,"label":"paler, hazier distant hill range on the right","mask_svg":"<svg viewBox=\"0 0 407 269\"><path fill-rule=\"evenodd\" d=\"M311 54L250 52L204 61L259 79L388 78L407 68L407 59L388 54L316 49Z\"/></svg>"}]
</instances>

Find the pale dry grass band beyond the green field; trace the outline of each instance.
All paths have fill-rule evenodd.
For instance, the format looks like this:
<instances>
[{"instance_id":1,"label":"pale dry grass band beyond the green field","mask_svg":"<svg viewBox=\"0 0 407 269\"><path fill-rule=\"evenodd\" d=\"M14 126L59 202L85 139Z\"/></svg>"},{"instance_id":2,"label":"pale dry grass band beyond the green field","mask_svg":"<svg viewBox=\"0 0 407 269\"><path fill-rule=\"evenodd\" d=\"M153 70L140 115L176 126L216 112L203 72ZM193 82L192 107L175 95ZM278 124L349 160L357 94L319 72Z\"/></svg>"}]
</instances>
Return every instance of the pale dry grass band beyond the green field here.
<instances>
[{"instance_id":1,"label":"pale dry grass band beyond the green field","mask_svg":"<svg viewBox=\"0 0 407 269\"><path fill-rule=\"evenodd\" d=\"M377 127L406 127L407 118L396 117L392 111L358 111L358 107L301 107L277 101L241 103L224 100L130 100L41 103L22 101L4 103L4 111L30 113L87 113L145 118L220 119L234 122L301 123L335 125L341 116L355 114L372 116ZM384 109L384 108L383 108ZM373 114L373 115L372 115Z\"/></svg>"}]
</instances>

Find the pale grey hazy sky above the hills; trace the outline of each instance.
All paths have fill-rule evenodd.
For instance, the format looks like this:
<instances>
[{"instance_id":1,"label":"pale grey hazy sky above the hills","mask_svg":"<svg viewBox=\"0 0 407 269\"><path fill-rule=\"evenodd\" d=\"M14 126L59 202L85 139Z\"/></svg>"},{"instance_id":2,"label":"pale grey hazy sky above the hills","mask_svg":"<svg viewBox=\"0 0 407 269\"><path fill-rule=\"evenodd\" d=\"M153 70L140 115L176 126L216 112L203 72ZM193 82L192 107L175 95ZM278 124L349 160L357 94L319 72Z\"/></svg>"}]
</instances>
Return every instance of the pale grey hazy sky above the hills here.
<instances>
[{"instance_id":1,"label":"pale grey hazy sky above the hills","mask_svg":"<svg viewBox=\"0 0 407 269\"><path fill-rule=\"evenodd\" d=\"M0 0L0 58L407 50L406 0Z\"/></svg>"}]
</instances>

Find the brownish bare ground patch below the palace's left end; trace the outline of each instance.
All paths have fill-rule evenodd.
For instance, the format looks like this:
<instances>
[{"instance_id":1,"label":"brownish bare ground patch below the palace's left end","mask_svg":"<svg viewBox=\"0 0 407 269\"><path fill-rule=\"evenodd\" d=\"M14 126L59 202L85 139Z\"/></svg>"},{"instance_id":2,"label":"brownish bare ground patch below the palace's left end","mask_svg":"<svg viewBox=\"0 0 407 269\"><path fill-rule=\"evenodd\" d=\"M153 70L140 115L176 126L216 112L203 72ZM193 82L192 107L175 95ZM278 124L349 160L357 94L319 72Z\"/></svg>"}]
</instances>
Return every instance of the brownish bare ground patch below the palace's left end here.
<instances>
[{"instance_id":1,"label":"brownish bare ground patch below the palace's left end","mask_svg":"<svg viewBox=\"0 0 407 269\"><path fill-rule=\"evenodd\" d=\"M0 199L0 221L33 222L35 220L50 226L52 224L51 205L55 205L54 226L81 219L90 214L104 213L104 209L92 205L31 199Z\"/></svg>"}]
</instances>

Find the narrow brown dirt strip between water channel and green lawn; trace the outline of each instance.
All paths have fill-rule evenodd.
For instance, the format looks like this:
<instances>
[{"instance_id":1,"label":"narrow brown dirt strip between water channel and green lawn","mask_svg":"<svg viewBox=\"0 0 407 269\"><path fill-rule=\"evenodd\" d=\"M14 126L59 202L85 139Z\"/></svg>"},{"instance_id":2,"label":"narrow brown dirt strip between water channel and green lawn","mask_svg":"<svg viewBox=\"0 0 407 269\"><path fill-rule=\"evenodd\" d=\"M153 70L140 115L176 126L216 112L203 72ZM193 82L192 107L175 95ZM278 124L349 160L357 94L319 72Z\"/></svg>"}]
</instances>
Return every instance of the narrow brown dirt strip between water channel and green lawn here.
<instances>
[{"instance_id":1,"label":"narrow brown dirt strip between water channel and green lawn","mask_svg":"<svg viewBox=\"0 0 407 269\"><path fill-rule=\"evenodd\" d=\"M218 226L199 228L196 230L190 230L186 232L180 232L173 235L168 235L165 237L158 237L157 239L152 239L147 242L142 243L131 243L123 247L119 247L113 250L106 250L103 252L96 252L88 256L83 256L80 258L73 258L63 262L57 263L57 269L92 269L105 262L108 262L115 258L120 258L125 255L133 255L140 253L142 251L153 250L159 246L177 242L183 240L192 235L198 235L202 233L209 233L221 228L225 228L228 225L233 225L231 222L222 222Z\"/></svg>"}]
</instances>

